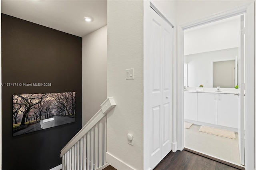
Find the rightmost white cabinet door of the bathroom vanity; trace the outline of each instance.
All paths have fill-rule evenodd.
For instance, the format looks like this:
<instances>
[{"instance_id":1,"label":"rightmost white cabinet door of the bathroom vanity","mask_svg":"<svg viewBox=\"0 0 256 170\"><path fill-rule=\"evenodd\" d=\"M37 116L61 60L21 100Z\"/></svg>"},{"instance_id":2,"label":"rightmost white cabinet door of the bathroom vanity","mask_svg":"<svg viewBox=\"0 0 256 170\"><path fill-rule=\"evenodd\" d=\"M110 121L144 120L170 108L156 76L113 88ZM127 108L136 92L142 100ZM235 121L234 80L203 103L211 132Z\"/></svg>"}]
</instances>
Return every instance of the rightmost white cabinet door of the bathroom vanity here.
<instances>
[{"instance_id":1,"label":"rightmost white cabinet door of the bathroom vanity","mask_svg":"<svg viewBox=\"0 0 256 170\"><path fill-rule=\"evenodd\" d=\"M217 124L238 128L238 97L234 94L217 95Z\"/></svg>"}]
</instances>

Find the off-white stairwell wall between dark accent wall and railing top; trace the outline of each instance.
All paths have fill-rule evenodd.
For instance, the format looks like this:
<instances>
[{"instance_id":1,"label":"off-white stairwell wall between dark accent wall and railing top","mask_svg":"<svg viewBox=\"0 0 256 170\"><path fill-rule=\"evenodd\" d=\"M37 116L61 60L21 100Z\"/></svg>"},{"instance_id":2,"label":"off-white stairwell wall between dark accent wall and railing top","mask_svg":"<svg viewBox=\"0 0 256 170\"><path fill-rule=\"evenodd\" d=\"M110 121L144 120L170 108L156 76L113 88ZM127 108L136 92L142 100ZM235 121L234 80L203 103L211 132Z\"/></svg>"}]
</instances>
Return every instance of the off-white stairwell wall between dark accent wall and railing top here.
<instances>
[{"instance_id":1,"label":"off-white stairwell wall between dark accent wall and railing top","mask_svg":"<svg viewBox=\"0 0 256 170\"><path fill-rule=\"evenodd\" d=\"M83 37L82 126L107 98L107 26Z\"/></svg>"}]
</instances>

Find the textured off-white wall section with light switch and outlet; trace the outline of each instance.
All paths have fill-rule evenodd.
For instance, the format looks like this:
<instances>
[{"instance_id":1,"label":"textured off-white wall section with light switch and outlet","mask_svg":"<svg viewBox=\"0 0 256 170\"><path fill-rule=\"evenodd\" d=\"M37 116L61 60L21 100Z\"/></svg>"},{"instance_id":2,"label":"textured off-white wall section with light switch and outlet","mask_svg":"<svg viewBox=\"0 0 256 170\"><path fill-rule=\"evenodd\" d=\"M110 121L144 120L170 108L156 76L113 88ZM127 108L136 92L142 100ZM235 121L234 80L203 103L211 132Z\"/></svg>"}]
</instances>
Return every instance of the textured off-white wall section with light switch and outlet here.
<instances>
[{"instance_id":1,"label":"textured off-white wall section with light switch and outlet","mask_svg":"<svg viewBox=\"0 0 256 170\"><path fill-rule=\"evenodd\" d=\"M126 69L134 79L126 80ZM143 1L108 1L107 162L114 168L143 169ZM134 146L127 134L134 135Z\"/></svg>"}]
</instances>

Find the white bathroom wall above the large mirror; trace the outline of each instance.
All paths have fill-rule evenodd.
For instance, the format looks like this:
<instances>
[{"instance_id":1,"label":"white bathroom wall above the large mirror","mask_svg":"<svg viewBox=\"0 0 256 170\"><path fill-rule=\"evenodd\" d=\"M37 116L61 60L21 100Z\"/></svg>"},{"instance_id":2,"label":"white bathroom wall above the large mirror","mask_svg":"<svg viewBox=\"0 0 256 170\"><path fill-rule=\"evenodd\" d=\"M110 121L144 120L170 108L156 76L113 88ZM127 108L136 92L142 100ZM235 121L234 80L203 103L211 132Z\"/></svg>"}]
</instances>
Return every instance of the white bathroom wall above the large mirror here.
<instances>
[{"instance_id":1,"label":"white bathroom wall above the large mirror","mask_svg":"<svg viewBox=\"0 0 256 170\"><path fill-rule=\"evenodd\" d=\"M184 55L238 47L240 16L214 23L184 31Z\"/></svg>"}]
</instances>

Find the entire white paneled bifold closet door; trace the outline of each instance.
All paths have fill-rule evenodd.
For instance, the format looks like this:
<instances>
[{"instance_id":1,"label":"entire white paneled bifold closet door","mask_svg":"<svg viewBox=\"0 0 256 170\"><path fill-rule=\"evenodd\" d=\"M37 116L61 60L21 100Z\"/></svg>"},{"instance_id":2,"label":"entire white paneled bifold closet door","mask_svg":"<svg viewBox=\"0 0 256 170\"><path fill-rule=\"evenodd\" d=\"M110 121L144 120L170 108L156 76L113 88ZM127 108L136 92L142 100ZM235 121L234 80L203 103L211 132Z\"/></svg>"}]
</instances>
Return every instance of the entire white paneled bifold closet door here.
<instances>
[{"instance_id":1,"label":"entire white paneled bifold closet door","mask_svg":"<svg viewBox=\"0 0 256 170\"><path fill-rule=\"evenodd\" d=\"M150 28L150 168L172 150L173 28L153 9Z\"/></svg>"}]
</instances>

